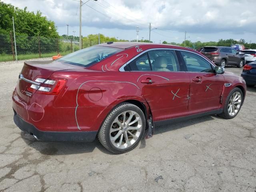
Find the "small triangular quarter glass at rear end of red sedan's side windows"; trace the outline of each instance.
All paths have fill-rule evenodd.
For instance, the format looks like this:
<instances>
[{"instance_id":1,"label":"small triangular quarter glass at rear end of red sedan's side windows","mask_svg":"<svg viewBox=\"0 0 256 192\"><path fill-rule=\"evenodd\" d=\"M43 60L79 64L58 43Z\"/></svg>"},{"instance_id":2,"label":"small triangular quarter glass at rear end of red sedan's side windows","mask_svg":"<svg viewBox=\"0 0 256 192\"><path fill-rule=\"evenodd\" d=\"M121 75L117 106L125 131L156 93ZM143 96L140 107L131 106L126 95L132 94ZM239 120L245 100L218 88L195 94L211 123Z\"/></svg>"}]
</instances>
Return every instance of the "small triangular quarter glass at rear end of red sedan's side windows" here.
<instances>
[{"instance_id":1,"label":"small triangular quarter glass at rear end of red sedan's side windows","mask_svg":"<svg viewBox=\"0 0 256 192\"><path fill-rule=\"evenodd\" d=\"M126 67L125 71L150 71L150 63L148 61L148 55L146 53L132 60Z\"/></svg>"}]
</instances>

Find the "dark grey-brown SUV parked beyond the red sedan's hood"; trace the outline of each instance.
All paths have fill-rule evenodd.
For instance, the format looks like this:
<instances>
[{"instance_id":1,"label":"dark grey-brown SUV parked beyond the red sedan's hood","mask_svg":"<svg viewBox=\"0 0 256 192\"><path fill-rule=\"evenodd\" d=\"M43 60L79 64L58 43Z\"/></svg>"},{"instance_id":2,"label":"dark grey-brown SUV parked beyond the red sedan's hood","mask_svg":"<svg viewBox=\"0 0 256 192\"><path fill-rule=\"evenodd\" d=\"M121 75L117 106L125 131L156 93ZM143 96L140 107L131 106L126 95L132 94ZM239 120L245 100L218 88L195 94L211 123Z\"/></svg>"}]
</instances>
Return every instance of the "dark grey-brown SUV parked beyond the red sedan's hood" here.
<instances>
[{"instance_id":1,"label":"dark grey-brown SUV parked beyond the red sedan's hood","mask_svg":"<svg viewBox=\"0 0 256 192\"><path fill-rule=\"evenodd\" d=\"M225 67L227 64L241 68L245 64L244 56L231 47L207 46L201 50L201 53L217 66Z\"/></svg>"}]
</instances>

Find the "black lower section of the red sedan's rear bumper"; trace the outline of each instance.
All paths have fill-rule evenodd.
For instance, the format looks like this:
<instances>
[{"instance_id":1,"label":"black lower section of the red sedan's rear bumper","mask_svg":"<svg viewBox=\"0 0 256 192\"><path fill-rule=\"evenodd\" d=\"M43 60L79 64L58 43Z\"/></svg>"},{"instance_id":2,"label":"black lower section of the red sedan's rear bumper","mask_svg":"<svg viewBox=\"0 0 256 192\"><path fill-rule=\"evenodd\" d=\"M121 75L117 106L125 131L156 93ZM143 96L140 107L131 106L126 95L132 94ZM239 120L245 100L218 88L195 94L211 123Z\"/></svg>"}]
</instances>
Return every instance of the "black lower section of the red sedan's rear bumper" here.
<instances>
[{"instance_id":1,"label":"black lower section of the red sedan's rear bumper","mask_svg":"<svg viewBox=\"0 0 256 192\"><path fill-rule=\"evenodd\" d=\"M92 142L96 138L97 131L77 131L77 132L50 132L40 131L34 125L23 120L15 111L14 123L22 131L34 135L40 141L77 141Z\"/></svg>"}]
</instances>

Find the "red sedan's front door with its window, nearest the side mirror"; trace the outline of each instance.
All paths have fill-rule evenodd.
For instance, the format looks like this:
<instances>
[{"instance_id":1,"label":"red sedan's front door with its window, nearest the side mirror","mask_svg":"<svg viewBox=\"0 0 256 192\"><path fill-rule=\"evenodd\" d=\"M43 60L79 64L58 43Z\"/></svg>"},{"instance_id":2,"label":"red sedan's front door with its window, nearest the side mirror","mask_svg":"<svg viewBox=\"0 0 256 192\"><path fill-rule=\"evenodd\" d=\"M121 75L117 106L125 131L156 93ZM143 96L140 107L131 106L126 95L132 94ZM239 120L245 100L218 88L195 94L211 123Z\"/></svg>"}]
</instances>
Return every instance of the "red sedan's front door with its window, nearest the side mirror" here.
<instances>
[{"instance_id":1,"label":"red sedan's front door with its window, nearest the side mirror","mask_svg":"<svg viewBox=\"0 0 256 192\"><path fill-rule=\"evenodd\" d=\"M188 111L198 114L220 108L223 74L214 72L214 65L199 54L180 51L190 77Z\"/></svg>"}]
</instances>

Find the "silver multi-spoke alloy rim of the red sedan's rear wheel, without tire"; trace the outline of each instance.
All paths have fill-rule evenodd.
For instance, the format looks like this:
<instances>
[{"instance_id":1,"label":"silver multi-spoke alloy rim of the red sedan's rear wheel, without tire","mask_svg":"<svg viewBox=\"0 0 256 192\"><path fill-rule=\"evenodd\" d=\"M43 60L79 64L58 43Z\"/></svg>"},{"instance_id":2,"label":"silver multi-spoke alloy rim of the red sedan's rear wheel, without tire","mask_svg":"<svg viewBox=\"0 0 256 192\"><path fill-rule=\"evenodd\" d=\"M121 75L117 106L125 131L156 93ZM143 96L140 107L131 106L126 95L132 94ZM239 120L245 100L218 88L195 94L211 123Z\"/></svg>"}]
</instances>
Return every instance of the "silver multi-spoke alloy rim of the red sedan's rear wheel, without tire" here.
<instances>
[{"instance_id":1,"label":"silver multi-spoke alloy rim of the red sedan's rear wheel, without tire","mask_svg":"<svg viewBox=\"0 0 256 192\"><path fill-rule=\"evenodd\" d=\"M119 149L132 146L142 133L142 119L135 111L129 110L119 114L110 128L110 141Z\"/></svg>"}]
</instances>

